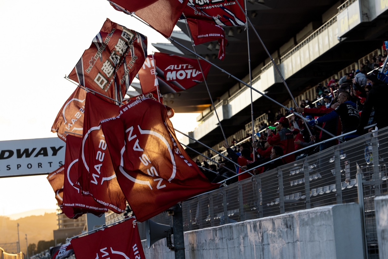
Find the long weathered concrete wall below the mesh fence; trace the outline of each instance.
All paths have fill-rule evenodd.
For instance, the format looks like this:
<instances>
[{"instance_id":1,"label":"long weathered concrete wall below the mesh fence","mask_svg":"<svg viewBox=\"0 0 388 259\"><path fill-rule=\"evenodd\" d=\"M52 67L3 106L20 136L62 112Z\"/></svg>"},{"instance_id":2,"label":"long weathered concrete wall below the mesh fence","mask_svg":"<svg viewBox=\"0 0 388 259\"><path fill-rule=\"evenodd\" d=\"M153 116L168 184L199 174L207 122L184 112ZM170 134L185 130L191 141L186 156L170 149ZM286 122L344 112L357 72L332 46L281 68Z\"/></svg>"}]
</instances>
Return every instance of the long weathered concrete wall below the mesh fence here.
<instances>
[{"instance_id":1,"label":"long weathered concrete wall below the mesh fence","mask_svg":"<svg viewBox=\"0 0 388 259\"><path fill-rule=\"evenodd\" d=\"M358 204L300 210L185 232L186 259L364 258ZM165 239L147 249L147 259L174 258Z\"/></svg>"}]
</instances>

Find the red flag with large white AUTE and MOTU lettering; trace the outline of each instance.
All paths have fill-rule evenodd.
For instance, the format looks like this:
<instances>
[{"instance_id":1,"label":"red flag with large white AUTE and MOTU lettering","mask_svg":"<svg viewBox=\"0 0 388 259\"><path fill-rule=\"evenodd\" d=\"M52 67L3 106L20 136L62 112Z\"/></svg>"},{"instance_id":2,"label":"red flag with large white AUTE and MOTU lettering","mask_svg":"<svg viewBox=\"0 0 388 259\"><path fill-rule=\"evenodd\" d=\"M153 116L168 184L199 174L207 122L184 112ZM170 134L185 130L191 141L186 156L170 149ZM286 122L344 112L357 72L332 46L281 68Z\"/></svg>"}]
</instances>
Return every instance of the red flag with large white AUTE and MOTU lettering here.
<instances>
[{"instance_id":1,"label":"red flag with large white AUTE and MOTU lettering","mask_svg":"<svg viewBox=\"0 0 388 259\"><path fill-rule=\"evenodd\" d=\"M147 57L147 59L149 61L145 62L139 70L139 80L143 93L156 90L155 75L152 75L154 66L156 66L159 92L161 94L180 92L203 82L211 67L209 63L200 60L204 73L202 75L196 59L160 52L155 53L153 59L152 57Z\"/></svg>"}]
</instances>

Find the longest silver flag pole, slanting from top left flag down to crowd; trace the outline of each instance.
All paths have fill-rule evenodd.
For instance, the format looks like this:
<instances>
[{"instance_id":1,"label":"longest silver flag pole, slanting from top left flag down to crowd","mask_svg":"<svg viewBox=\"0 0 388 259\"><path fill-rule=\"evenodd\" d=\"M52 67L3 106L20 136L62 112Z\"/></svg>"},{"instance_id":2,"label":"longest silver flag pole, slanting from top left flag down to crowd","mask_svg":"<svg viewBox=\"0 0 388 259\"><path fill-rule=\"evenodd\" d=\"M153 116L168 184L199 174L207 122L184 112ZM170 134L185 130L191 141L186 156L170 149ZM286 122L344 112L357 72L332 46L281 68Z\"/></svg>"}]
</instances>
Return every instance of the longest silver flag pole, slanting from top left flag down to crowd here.
<instances>
[{"instance_id":1,"label":"longest silver flag pole, slanting from top left flag down to crowd","mask_svg":"<svg viewBox=\"0 0 388 259\"><path fill-rule=\"evenodd\" d=\"M108 0L108 2L112 3L112 2L109 1L109 0ZM237 2L237 3L238 3L238 2ZM114 4L114 3L113 3L113 4ZM134 17L135 19L139 20L140 22L142 22L142 23L144 23L145 25L147 25L147 26L149 26L150 28L152 28L151 25L149 25L148 23L145 23L145 22L144 22L142 19L140 19L139 17L134 16L134 13L128 13L126 10L122 9L120 6L118 6L118 5L116 5L116 4L114 4L114 5L115 5L116 7L118 7L119 9L121 9L125 14L129 14L130 16ZM240 6L240 8L241 8L241 6ZM249 19L248 19L248 21L249 21ZM249 21L249 23L251 24L250 21ZM251 24L251 26L252 26L252 24ZM154 29L154 28L152 28L152 29ZM255 28L253 28L253 29L255 29ZM154 30L155 30L155 29L154 29ZM254 30L254 31L255 31L255 30ZM255 32L256 32L256 31L255 31ZM256 32L256 35L258 35L257 32ZM170 42L175 42L175 43L177 43L177 45L179 45L179 46L182 47L183 49L185 49L185 50L191 52L191 53L194 54L196 57L201 58L203 61L209 63L209 64L212 65L212 66L214 66L215 68L217 68L217 69L220 70L221 72L227 74L229 77L234 78L237 82L242 83L243 85L245 85L245 86L251 88L251 89L254 90L255 92L261 94L262 96L264 96L264 97L267 98L268 100L270 100L270 101L272 101L272 102L278 104L279 106L281 106L281 107L284 108L285 110L287 110L287 111L293 113L294 115L300 117L305 123L308 121L308 119L306 119L305 117L303 117L301 114L295 113L295 112L292 111L290 108L284 106L283 104L279 103L278 101L275 101L274 99L272 99L271 97L267 96L266 94L263 94L263 93L260 92L259 90L255 89L255 88L253 88L251 85L248 85L247 83L243 82L242 80L240 80L240 79L237 78L236 76L232 75L231 73L229 73L229 72L223 70L222 68L220 68L220 67L217 66L216 64L211 63L211 62L208 61L207 59L204 59L203 57L199 56L199 55L198 55L197 53L195 53L194 51L192 51L192 50L188 49L187 47L185 47L184 45L180 44L179 42L177 42L177 41L174 40L173 38L170 37L170 38L167 38L167 40L169 40ZM267 51L268 51L268 50L267 50ZM273 60L273 59L272 59L272 60ZM275 63L275 61L273 61L273 62ZM275 66L275 67L277 68L277 66ZM277 69L278 69L278 68L277 68ZM279 71L279 72L280 72L280 71ZM331 134L330 132L328 132L327 130L322 129L322 128L319 127L318 125L314 125L314 127L317 127L318 129L322 130L323 132L325 132L325 133L328 134L329 136L336 137L336 136L334 136L333 134ZM309 129L308 127L307 127L307 130L310 132L310 129ZM340 138L338 138L338 139L339 139L340 141L343 141L343 140L340 139ZM197 141L196 139L194 139L194 140Z\"/></svg>"}]
</instances>

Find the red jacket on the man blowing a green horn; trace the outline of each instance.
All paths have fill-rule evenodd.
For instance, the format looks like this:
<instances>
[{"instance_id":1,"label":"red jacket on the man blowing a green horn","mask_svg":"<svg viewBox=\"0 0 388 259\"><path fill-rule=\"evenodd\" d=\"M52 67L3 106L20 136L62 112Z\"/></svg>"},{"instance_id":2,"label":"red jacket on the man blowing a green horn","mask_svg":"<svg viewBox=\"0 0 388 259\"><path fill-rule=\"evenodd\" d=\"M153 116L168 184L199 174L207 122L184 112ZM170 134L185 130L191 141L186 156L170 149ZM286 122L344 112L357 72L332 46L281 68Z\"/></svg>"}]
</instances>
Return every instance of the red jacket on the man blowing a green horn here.
<instances>
[{"instance_id":1,"label":"red jacket on the man blowing a green horn","mask_svg":"<svg viewBox=\"0 0 388 259\"><path fill-rule=\"evenodd\" d=\"M267 141L271 146L280 146L284 155L295 151L294 135L289 129L282 129L275 136L268 135ZM283 159L285 163L291 163L295 161L295 155L289 155Z\"/></svg>"}]
</instances>

